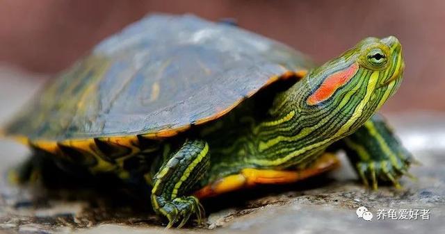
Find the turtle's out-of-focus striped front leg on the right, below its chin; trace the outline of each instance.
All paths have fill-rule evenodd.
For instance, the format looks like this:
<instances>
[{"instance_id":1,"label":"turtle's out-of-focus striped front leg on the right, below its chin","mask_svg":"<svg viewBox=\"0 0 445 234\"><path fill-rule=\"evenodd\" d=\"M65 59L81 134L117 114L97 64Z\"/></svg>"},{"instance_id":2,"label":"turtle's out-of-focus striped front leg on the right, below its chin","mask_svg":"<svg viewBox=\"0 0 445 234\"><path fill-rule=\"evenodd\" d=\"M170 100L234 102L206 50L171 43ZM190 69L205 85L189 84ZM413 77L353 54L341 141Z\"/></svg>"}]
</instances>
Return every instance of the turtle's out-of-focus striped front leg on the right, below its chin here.
<instances>
[{"instance_id":1,"label":"turtle's out-of-focus striped front leg on the right, below its chin","mask_svg":"<svg viewBox=\"0 0 445 234\"><path fill-rule=\"evenodd\" d=\"M414 158L380 115L371 117L357 132L341 140L341 144L364 185L369 186L371 181L374 190L378 181L401 187L398 178L410 176L407 171Z\"/></svg>"}]
</instances>

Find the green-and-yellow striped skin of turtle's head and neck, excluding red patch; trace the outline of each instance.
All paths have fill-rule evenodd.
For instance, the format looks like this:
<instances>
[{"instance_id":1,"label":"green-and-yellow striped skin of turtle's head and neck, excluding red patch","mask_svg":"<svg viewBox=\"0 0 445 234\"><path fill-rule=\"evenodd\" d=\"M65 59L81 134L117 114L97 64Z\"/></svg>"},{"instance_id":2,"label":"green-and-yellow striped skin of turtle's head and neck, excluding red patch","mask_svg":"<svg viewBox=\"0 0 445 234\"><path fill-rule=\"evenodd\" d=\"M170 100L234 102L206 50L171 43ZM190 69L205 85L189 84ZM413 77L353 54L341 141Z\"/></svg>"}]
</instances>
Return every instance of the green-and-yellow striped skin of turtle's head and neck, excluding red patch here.
<instances>
[{"instance_id":1,"label":"green-and-yellow striped skin of turtle's head and neck, excluding red patch","mask_svg":"<svg viewBox=\"0 0 445 234\"><path fill-rule=\"evenodd\" d=\"M386 58L380 67L369 62L369 54L375 50ZM346 83L331 85L336 90L329 98L314 105L308 103L327 78L355 63L359 65L357 72L349 72L353 77L348 77ZM354 133L391 97L401 82L403 68L401 45L395 37L359 42L277 94L266 119L258 121L241 114L239 119L247 127L230 126L236 131L217 131L222 140L209 141L210 181L245 167L307 167L330 144ZM234 140L227 144L227 139Z\"/></svg>"}]
</instances>

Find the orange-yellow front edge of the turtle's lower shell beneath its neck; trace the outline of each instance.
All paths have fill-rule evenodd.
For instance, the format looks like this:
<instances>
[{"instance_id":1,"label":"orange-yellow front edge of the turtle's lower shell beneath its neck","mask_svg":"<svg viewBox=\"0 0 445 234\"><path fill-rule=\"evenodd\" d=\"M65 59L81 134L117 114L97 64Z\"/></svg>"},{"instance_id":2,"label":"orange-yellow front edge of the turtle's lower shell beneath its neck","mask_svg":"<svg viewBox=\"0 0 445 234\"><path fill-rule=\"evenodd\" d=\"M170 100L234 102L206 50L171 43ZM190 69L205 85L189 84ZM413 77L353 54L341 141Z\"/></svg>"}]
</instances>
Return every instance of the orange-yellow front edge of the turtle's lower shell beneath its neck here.
<instances>
[{"instance_id":1,"label":"orange-yellow front edge of the turtle's lower shell beneath its neck","mask_svg":"<svg viewBox=\"0 0 445 234\"><path fill-rule=\"evenodd\" d=\"M238 174L232 174L213 181L209 185L195 192L195 196L202 199L213 197L225 192L232 192L243 188L261 184L284 184L302 181L305 178L322 174L339 166L339 160L333 153L324 153L306 169L275 170L275 169L241 169Z\"/></svg>"}]
</instances>

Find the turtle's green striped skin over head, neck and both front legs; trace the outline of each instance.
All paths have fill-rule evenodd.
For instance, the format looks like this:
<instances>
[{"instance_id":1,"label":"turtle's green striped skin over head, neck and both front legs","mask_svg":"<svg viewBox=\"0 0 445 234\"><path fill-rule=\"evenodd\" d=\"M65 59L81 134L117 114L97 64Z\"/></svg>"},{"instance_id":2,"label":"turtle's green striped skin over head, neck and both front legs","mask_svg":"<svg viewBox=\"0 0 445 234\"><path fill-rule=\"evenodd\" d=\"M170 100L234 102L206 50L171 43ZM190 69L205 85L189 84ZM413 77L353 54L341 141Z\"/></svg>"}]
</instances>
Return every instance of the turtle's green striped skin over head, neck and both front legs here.
<instances>
[{"instance_id":1,"label":"turtle's green striped skin over head, neck and both front legs","mask_svg":"<svg viewBox=\"0 0 445 234\"><path fill-rule=\"evenodd\" d=\"M365 184L371 180L376 187L380 179L398 185L410 154L378 117L370 118L401 83L401 53L396 37L366 38L270 102L248 99L216 122L158 142L149 156L129 158L138 167L124 163L117 173L151 187L154 211L168 227L183 226L193 214L201 220L204 210L190 196L200 187L245 168L305 169L334 142L346 149ZM311 99L329 77L354 66L325 99Z\"/></svg>"}]
</instances>

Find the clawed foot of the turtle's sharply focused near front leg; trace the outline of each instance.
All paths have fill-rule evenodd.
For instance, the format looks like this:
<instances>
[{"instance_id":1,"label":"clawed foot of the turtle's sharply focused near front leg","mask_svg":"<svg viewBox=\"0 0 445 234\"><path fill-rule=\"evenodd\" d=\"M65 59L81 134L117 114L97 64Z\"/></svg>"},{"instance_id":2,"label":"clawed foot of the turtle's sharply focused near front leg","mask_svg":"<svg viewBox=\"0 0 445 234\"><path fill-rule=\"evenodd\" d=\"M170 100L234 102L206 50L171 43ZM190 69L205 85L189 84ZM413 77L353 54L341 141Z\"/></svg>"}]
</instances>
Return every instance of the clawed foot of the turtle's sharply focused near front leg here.
<instances>
[{"instance_id":1,"label":"clawed foot of the turtle's sharply focused near front leg","mask_svg":"<svg viewBox=\"0 0 445 234\"><path fill-rule=\"evenodd\" d=\"M167 228L171 228L178 223L177 228L181 228L193 214L197 216L198 224L202 224L202 219L205 217L204 208L200 201L192 196L178 197L172 201L165 201L163 206L157 211L168 219Z\"/></svg>"}]
</instances>

